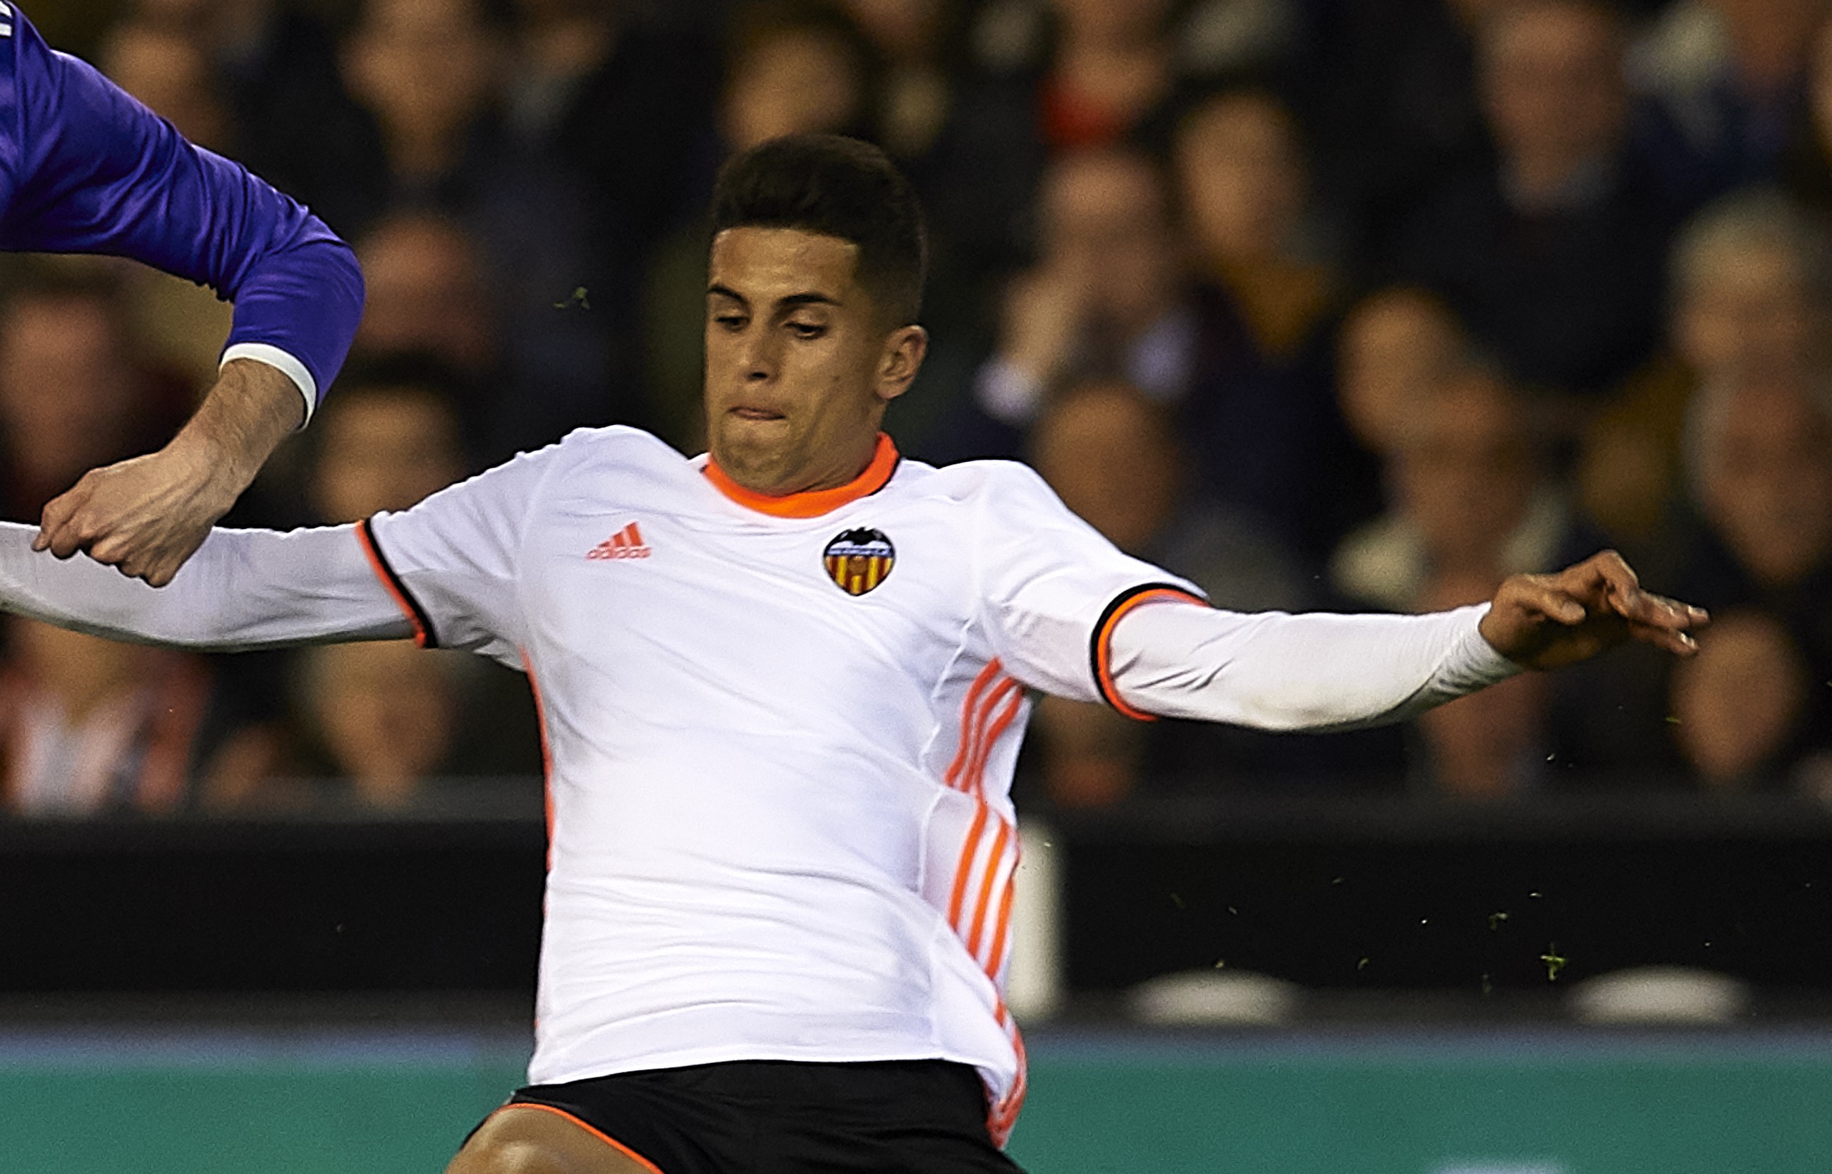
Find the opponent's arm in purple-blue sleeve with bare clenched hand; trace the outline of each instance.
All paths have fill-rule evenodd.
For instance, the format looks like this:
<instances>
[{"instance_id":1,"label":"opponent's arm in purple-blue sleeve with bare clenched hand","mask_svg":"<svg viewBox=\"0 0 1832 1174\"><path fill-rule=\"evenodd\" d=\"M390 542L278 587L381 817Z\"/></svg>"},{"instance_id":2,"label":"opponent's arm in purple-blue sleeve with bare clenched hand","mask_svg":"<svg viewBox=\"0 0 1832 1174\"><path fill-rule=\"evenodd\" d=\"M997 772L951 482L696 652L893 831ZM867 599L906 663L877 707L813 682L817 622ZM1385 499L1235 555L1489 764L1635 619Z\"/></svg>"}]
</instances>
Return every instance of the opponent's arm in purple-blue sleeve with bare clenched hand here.
<instances>
[{"instance_id":1,"label":"opponent's arm in purple-blue sleeve with bare clenched hand","mask_svg":"<svg viewBox=\"0 0 1832 1174\"><path fill-rule=\"evenodd\" d=\"M234 302L218 383L161 451L82 476L38 549L161 586L306 423L363 311L355 256L242 167L187 143L0 4L0 249L108 253Z\"/></svg>"}]
</instances>

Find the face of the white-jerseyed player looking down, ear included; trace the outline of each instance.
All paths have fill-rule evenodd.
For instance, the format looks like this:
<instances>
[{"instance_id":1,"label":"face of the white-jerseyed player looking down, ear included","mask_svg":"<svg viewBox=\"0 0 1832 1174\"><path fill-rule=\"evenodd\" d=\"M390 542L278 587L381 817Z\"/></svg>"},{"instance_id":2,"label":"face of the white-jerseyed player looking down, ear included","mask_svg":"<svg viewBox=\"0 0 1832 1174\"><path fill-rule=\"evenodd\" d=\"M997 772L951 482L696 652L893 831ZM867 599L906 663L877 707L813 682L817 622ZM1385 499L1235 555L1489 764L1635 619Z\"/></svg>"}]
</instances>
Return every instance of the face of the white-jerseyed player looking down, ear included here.
<instances>
[{"instance_id":1,"label":"face of the white-jerseyed player looking down, ear included","mask_svg":"<svg viewBox=\"0 0 1832 1174\"><path fill-rule=\"evenodd\" d=\"M916 377L927 337L885 324L854 280L857 253L799 229L725 229L713 240L707 443L746 489L845 485L870 463L885 407Z\"/></svg>"}]
</instances>

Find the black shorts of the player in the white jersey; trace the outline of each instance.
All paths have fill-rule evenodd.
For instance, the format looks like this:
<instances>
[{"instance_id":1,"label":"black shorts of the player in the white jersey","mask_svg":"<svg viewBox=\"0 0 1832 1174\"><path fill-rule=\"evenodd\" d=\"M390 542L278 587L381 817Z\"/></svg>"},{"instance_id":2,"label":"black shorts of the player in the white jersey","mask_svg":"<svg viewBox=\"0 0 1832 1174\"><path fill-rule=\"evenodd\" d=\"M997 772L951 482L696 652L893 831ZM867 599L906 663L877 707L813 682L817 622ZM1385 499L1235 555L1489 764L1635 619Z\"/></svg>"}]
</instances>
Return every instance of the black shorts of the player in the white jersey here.
<instances>
[{"instance_id":1,"label":"black shorts of the player in the white jersey","mask_svg":"<svg viewBox=\"0 0 1832 1174\"><path fill-rule=\"evenodd\" d=\"M947 1060L738 1060L531 1084L661 1174L1020 1174L978 1073Z\"/></svg>"}]
</instances>

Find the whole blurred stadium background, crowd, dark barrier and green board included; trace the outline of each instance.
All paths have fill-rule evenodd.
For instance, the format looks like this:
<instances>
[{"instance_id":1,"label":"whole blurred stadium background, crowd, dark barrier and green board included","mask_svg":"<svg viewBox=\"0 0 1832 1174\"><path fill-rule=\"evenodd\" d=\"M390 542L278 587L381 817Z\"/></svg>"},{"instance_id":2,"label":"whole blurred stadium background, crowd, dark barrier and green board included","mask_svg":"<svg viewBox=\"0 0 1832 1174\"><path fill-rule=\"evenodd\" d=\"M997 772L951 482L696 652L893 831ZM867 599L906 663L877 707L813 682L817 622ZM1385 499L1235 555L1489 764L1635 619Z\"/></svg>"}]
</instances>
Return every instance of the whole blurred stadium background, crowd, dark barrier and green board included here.
<instances>
[{"instance_id":1,"label":"whole blurred stadium background, crowd, dark barrier and green board included","mask_svg":"<svg viewBox=\"0 0 1832 1174\"><path fill-rule=\"evenodd\" d=\"M1832 1167L1832 31L1819 0L40 0L359 249L238 507L698 440L698 216L846 130L932 216L925 460L1019 456L1227 606L1612 544L1718 625L1400 731L1046 705L1013 1152L1053 1170ZM209 295L0 273L0 495L169 432ZM522 683L372 647L0 663L0 1170L438 1169L515 1084ZM1662 967L1651 971L1649 967Z\"/></svg>"}]
</instances>

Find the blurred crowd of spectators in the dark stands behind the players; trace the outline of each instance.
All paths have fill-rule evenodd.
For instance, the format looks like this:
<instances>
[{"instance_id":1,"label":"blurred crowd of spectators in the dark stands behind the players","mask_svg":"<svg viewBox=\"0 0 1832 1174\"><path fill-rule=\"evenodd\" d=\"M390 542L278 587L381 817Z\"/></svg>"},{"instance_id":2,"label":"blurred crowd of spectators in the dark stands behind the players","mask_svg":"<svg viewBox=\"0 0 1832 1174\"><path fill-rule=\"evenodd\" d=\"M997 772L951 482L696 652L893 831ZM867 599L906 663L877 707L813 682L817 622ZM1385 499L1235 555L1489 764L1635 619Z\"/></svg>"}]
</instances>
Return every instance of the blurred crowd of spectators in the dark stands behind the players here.
<instances>
[{"instance_id":1,"label":"blurred crowd of spectators in the dark stands behind the players","mask_svg":"<svg viewBox=\"0 0 1832 1174\"><path fill-rule=\"evenodd\" d=\"M1028 460L1218 606L1456 606L1614 546L1717 617L1684 665L1630 648L1396 731L1044 701L1030 799L1832 799L1828 0L27 7L363 260L344 375L231 522L399 509L579 425L700 451L713 174L857 134L931 218L905 454ZM225 313L15 260L5 516L169 436ZM7 811L388 810L537 771L526 687L462 658L7 628Z\"/></svg>"}]
</instances>

